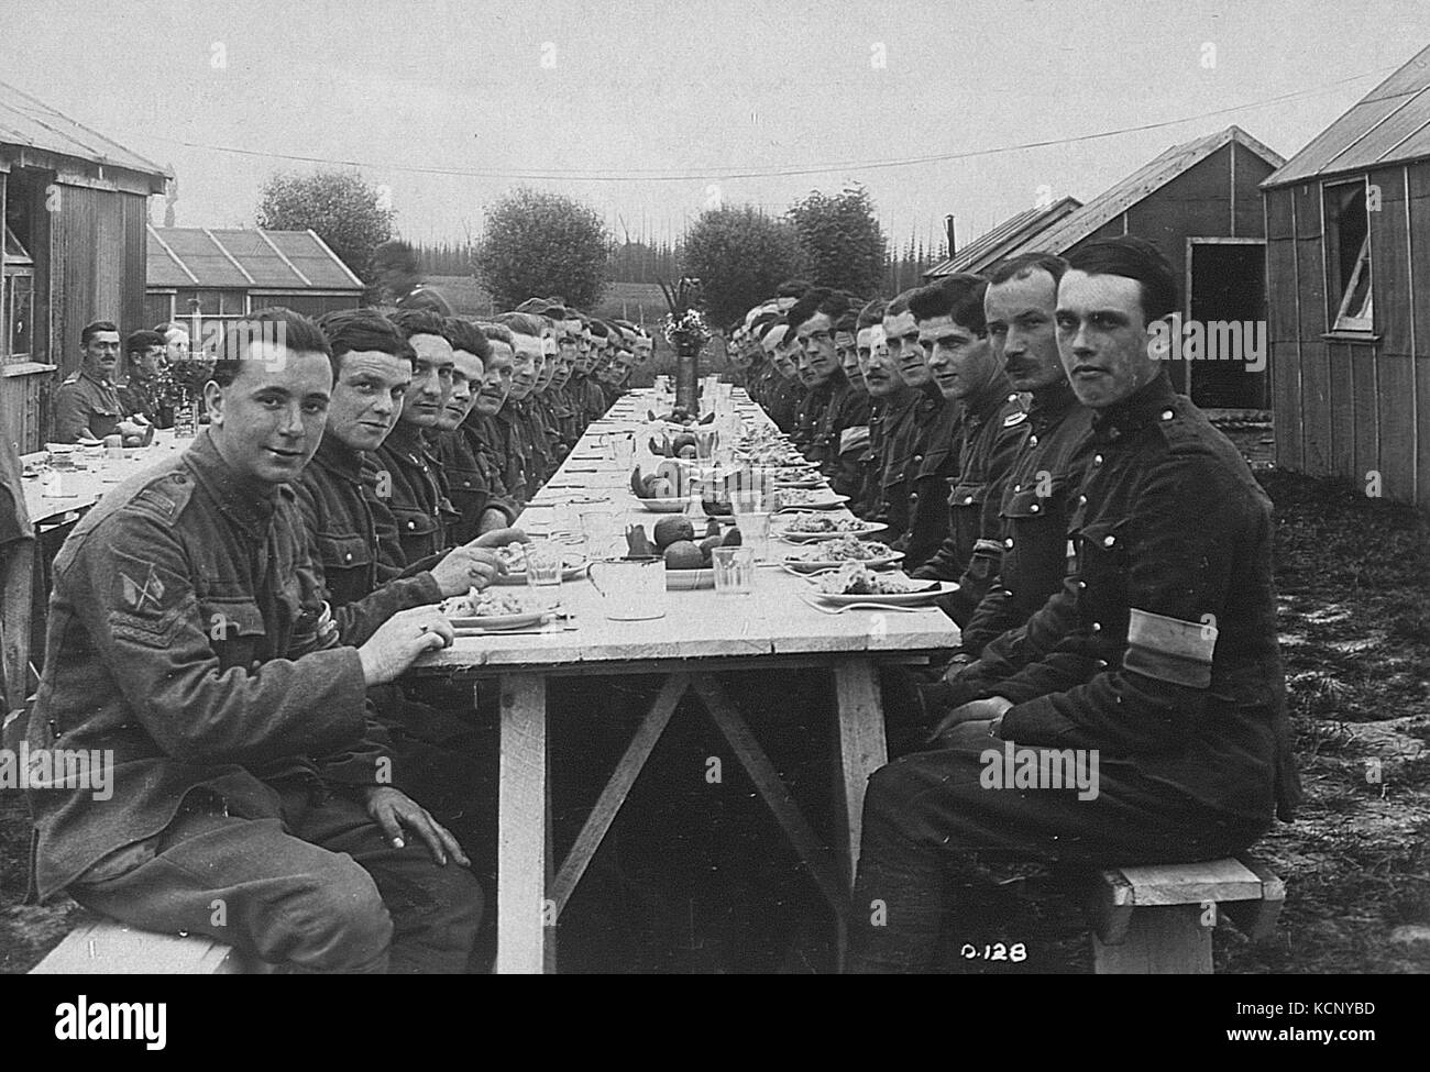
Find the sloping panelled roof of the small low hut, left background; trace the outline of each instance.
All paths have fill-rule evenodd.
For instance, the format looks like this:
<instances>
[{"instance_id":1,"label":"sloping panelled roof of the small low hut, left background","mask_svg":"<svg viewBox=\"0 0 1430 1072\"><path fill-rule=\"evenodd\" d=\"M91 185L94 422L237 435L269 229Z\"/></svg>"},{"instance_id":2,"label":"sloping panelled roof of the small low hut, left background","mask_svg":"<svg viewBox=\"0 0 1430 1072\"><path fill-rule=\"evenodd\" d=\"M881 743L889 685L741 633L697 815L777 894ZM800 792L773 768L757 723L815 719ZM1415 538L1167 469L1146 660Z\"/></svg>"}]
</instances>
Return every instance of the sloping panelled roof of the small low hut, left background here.
<instances>
[{"instance_id":1,"label":"sloping panelled roof of the small low hut, left background","mask_svg":"<svg viewBox=\"0 0 1430 1072\"><path fill-rule=\"evenodd\" d=\"M150 287L362 290L310 230L149 227Z\"/></svg>"}]
</instances>

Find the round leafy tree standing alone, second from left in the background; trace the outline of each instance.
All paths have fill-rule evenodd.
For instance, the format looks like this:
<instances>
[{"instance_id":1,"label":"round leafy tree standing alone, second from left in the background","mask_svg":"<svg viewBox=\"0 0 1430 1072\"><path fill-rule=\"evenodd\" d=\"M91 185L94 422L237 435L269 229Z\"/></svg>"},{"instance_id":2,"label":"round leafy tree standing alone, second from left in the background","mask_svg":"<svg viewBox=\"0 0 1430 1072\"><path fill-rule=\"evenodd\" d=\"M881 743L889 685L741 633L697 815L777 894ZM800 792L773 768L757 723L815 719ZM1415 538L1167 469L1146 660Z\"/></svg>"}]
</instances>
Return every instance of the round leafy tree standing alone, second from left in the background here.
<instances>
[{"instance_id":1,"label":"round leafy tree standing alone, second from left in the background","mask_svg":"<svg viewBox=\"0 0 1430 1072\"><path fill-rule=\"evenodd\" d=\"M486 213L472 257L496 304L512 309L535 294L561 294L589 309L611 270L611 234L592 209L559 193L519 187Z\"/></svg>"}]
</instances>

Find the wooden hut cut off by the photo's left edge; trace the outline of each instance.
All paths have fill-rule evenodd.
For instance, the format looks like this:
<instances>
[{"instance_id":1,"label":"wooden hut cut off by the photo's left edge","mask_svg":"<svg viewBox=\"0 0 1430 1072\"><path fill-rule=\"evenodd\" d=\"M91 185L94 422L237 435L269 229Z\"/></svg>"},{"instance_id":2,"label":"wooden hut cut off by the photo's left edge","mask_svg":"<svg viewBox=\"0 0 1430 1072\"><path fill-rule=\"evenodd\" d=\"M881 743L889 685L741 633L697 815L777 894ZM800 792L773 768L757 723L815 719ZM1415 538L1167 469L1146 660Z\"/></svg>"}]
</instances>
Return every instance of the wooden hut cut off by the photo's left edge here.
<instances>
[{"instance_id":1,"label":"wooden hut cut off by the photo's left edge","mask_svg":"<svg viewBox=\"0 0 1430 1072\"><path fill-rule=\"evenodd\" d=\"M0 420L20 452L49 435L49 400L80 360L80 329L144 319L149 196L167 174L0 83Z\"/></svg>"}]
</instances>

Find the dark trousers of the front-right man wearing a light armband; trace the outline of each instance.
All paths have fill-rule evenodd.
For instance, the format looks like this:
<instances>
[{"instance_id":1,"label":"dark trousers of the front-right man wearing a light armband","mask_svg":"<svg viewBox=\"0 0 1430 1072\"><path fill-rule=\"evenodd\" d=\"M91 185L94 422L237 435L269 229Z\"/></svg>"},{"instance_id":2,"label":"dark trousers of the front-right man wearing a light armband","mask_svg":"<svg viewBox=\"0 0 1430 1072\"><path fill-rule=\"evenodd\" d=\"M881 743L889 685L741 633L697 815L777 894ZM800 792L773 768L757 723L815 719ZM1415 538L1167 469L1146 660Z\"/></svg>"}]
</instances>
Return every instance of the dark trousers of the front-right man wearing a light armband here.
<instances>
[{"instance_id":1,"label":"dark trousers of the front-right man wearing a light armband","mask_svg":"<svg viewBox=\"0 0 1430 1072\"><path fill-rule=\"evenodd\" d=\"M960 945L960 926L987 915L954 896L972 853L1100 866L1205 860L1247 848L1270 822L1218 818L1125 762L1100 763L1090 799L1075 788L984 788L988 749L1001 756L1004 742L987 722L967 722L937 749L874 772L849 972L925 972L941 948Z\"/></svg>"}]
</instances>

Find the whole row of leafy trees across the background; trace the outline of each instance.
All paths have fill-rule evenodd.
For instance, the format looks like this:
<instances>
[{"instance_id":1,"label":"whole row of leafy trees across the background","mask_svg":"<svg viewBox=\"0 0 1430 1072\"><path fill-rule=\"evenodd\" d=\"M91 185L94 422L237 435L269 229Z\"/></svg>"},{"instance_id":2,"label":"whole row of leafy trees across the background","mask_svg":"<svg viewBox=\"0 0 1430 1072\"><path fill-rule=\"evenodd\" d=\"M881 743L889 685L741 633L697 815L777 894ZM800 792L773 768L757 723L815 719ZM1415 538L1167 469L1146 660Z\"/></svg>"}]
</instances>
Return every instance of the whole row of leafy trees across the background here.
<instances>
[{"instance_id":1,"label":"whole row of leafy trees across the background","mask_svg":"<svg viewBox=\"0 0 1430 1072\"><path fill-rule=\"evenodd\" d=\"M539 293L589 309L612 282L692 276L721 326L786 279L889 296L915 286L947 256L945 243L928 249L914 236L889 249L874 200L858 184L832 194L812 190L784 216L748 204L708 209L679 243L616 243L581 200L522 187L486 207L480 240L412 244L396 237L383 187L358 172L327 169L273 174L255 222L272 230L315 230L368 282L370 303L396 302L430 276L473 276L498 307Z\"/></svg>"}]
</instances>

